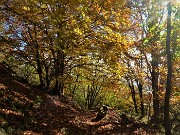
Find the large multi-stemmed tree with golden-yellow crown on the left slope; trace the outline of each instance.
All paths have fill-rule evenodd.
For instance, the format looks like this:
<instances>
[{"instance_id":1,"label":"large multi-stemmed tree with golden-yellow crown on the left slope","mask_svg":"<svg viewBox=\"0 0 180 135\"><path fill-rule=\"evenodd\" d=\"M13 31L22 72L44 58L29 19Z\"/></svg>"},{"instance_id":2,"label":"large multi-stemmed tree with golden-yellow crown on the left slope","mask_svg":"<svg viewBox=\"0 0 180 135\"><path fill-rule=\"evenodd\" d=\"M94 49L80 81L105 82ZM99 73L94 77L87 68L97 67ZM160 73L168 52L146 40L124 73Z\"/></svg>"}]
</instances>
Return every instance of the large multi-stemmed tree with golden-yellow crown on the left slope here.
<instances>
[{"instance_id":1,"label":"large multi-stemmed tree with golden-yellow crown on the left slope","mask_svg":"<svg viewBox=\"0 0 180 135\"><path fill-rule=\"evenodd\" d=\"M88 64L88 55L113 67L114 51L119 54L129 45L123 35L129 25L123 0L3 0L0 6L7 26L1 41L36 70L40 88L55 95L64 93L74 67Z\"/></svg>"}]
</instances>

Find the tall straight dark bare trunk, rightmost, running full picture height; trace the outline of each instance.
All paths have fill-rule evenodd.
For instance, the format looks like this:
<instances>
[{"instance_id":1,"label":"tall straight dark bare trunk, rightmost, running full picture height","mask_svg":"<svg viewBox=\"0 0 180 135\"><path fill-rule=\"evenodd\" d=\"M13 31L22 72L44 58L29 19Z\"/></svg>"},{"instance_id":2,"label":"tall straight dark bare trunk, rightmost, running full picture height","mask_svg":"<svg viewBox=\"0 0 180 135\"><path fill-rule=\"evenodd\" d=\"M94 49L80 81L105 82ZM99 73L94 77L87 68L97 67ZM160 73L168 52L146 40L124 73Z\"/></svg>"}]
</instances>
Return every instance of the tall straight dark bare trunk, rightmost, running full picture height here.
<instances>
[{"instance_id":1,"label":"tall straight dark bare trunk, rightmost, running full picture height","mask_svg":"<svg viewBox=\"0 0 180 135\"><path fill-rule=\"evenodd\" d=\"M165 134L171 135L171 126L170 126L170 118L169 118L169 100L171 95L172 89L172 55L170 49L171 43L171 2L168 3L168 16L167 16L167 37L166 37L166 54L167 54L167 83L166 83L166 93L165 93L165 103L164 103L164 127L165 127Z\"/></svg>"}]
</instances>

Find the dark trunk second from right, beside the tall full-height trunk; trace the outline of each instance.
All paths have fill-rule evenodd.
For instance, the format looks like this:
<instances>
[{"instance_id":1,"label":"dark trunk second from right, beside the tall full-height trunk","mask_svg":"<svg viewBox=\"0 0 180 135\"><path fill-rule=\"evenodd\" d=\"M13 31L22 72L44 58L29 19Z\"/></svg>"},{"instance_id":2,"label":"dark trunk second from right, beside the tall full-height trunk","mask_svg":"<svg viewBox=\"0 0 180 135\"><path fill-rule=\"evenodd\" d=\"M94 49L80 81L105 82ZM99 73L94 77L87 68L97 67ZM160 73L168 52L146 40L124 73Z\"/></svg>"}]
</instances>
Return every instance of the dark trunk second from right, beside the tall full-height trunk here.
<instances>
[{"instance_id":1,"label":"dark trunk second from right, beside the tall full-height trunk","mask_svg":"<svg viewBox=\"0 0 180 135\"><path fill-rule=\"evenodd\" d=\"M158 95L158 58L156 51L152 53L152 72L151 72L151 81L152 81L152 90L153 90L153 111L154 119L156 120L159 117L159 95Z\"/></svg>"}]
</instances>

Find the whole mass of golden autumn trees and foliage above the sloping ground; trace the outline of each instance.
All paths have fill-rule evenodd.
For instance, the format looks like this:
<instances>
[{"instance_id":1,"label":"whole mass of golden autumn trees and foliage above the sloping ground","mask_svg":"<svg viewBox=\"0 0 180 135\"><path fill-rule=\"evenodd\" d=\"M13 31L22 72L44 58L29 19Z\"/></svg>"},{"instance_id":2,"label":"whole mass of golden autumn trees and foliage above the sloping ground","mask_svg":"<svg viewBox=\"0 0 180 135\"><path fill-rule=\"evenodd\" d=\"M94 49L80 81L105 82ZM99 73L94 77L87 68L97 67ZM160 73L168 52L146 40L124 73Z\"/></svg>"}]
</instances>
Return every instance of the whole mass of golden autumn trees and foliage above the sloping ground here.
<instances>
[{"instance_id":1,"label":"whole mass of golden autumn trees and foliage above the sloping ground","mask_svg":"<svg viewBox=\"0 0 180 135\"><path fill-rule=\"evenodd\" d=\"M69 96L86 109L106 104L163 119L168 101L177 132L179 5L178 0L1 0L0 62L33 87Z\"/></svg>"}]
</instances>

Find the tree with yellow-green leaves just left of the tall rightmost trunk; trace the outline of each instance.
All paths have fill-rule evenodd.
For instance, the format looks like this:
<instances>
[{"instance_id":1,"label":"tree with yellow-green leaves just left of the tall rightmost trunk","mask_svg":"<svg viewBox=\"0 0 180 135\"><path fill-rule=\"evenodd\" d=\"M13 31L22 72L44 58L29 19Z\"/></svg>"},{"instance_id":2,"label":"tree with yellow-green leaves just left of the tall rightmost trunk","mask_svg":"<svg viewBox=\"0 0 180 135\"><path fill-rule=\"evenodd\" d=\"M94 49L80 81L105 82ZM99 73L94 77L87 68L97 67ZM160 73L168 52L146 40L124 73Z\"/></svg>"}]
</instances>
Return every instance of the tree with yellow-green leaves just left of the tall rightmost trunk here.
<instances>
[{"instance_id":1,"label":"tree with yellow-green leaves just left of the tall rightmost trunk","mask_svg":"<svg viewBox=\"0 0 180 135\"><path fill-rule=\"evenodd\" d=\"M165 81L165 58L164 58L164 7L162 1L131 1L132 9L137 11L132 15L133 20L139 23L132 33L136 38L134 48L139 55L139 69L142 70L142 84L144 88L150 88L153 95L153 117L158 120L162 100L160 99ZM154 6L159 5L159 6ZM135 22L134 21L134 22ZM138 72L138 71L136 71ZM146 83L144 83L146 82ZM148 89L149 89L148 88Z\"/></svg>"}]
</instances>

